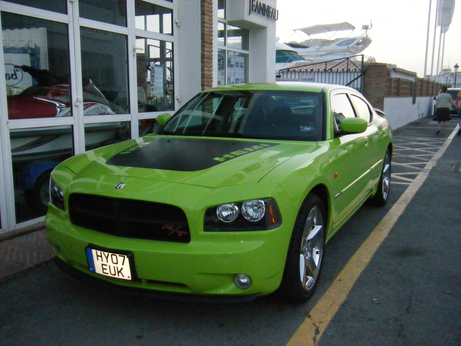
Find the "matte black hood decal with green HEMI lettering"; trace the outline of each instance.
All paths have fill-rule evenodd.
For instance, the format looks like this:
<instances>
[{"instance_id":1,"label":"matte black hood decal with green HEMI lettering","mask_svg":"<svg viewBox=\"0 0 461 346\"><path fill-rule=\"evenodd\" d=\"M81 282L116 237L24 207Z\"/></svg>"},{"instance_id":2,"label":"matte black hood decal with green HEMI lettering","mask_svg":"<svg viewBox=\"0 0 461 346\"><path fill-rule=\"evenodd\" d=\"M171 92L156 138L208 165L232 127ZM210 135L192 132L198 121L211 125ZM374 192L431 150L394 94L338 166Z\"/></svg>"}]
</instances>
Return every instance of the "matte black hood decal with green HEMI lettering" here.
<instances>
[{"instance_id":1,"label":"matte black hood decal with green HEMI lettering","mask_svg":"<svg viewBox=\"0 0 461 346\"><path fill-rule=\"evenodd\" d=\"M106 164L123 167L192 172L278 143L202 138L156 138L141 142L112 156Z\"/></svg>"}]
</instances>

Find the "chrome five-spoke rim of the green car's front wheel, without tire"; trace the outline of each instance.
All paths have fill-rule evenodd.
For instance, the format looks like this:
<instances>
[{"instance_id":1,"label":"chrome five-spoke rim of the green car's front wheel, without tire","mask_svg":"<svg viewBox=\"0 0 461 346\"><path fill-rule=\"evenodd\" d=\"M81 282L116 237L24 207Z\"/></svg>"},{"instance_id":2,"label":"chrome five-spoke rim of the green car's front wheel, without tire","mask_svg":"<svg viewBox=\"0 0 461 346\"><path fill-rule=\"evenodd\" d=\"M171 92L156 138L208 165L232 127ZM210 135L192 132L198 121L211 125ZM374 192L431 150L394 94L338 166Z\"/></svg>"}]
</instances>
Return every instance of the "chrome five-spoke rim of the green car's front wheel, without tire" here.
<instances>
[{"instance_id":1,"label":"chrome five-spoke rim of the green car's front wheel, without tire","mask_svg":"<svg viewBox=\"0 0 461 346\"><path fill-rule=\"evenodd\" d=\"M309 291L319 275L324 245L324 219L318 206L313 206L307 215L301 239L299 274L301 286Z\"/></svg>"}]
</instances>

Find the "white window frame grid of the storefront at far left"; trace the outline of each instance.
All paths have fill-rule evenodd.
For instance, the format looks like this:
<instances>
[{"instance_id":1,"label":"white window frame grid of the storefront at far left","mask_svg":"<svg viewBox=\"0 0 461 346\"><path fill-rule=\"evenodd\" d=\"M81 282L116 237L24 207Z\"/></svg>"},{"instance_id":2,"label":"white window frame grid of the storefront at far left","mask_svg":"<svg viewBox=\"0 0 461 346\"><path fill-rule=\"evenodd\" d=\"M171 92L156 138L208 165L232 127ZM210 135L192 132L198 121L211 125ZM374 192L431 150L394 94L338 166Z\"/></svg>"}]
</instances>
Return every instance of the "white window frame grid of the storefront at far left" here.
<instances>
[{"instance_id":1,"label":"white window frame grid of the storefront at far left","mask_svg":"<svg viewBox=\"0 0 461 346\"><path fill-rule=\"evenodd\" d=\"M10 130L28 129L34 127L48 127L71 125L73 129L74 154L85 152L85 124L95 124L103 122L130 121L130 137L135 139L139 137L138 121L142 119L154 119L162 113L174 113L175 111L146 112L138 113L137 105L137 79L136 79L136 36L151 38L154 40L168 41L173 43L173 73L175 94L177 93L177 52L175 46L175 31L177 27L175 18L177 18L178 1L173 2L166 0L143 0L158 6L171 8L172 11L172 29L173 35L165 35L150 31L135 29L135 0L126 0L127 26L118 26L99 22L87 18L79 18L78 0L67 0L68 14L42 10L34 7L13 4L0 0L0 11L11 12L19 15L30 16L34 18L46 19L53 22L59 22L68 25L68 44L69 44L69 65L71 75L71 100L72 116L60 118L41 118L41 119L8 119L8 107L6 102L6 81L5 81L5 60L4 54L0 54L0 170L3 172L3 179L0 179L0 217L1 227L0 234L13 231L15 229L34 225L44 221L45 217L41 216L33 220L16 222L15 196L12 172L12 154L10 142ZM80 26L93 29L110 31L127 36L127 57L128 57L128 83L130 96L130 113L126 114L109 114L109 115L83 115L83 90L82 90L82 66L81 66L81 44L80 44ZM1 18L0 18L1 27ZM3 32L0 32L0 39L3 46ZM175 95L176 96L176 95ZM175 110L179 108L179 103L175 97Z\"/></svg>"}]
</instances>

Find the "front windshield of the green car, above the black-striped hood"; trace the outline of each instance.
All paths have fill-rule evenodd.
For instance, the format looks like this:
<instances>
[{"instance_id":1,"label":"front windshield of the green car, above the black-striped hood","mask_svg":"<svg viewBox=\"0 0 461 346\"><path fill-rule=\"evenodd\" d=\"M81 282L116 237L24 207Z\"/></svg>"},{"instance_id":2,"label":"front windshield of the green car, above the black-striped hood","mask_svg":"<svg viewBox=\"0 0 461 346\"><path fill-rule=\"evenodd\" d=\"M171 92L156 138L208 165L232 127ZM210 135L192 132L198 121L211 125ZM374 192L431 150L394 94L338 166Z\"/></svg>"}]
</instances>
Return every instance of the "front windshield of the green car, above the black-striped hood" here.
<instances>
[{"instance_id":1,"label":"front windshield of the green car, above the black-striped hood","mask_svg":"<svg viewBox=\"0 0 461 346\"><path fill-rule=\"evenodd\" d=\"M159 134L319 141L322 94L214 91L198 95Z\"/></svg>"}]
</instances>

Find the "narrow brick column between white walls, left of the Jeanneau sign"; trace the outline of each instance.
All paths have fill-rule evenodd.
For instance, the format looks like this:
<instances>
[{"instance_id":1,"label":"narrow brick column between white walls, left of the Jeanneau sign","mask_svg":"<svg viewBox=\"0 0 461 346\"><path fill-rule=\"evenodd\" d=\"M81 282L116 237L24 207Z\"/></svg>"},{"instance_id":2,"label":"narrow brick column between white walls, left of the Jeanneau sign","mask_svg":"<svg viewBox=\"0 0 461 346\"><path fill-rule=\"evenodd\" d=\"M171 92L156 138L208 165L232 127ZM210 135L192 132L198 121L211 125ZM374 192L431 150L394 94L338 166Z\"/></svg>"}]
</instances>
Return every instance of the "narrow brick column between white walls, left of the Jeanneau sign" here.
<instances>
[{"instance_id":1,"label":"narrow brick column between white walls, left of the Jeanneau sign","mask_svg":"<svg viewBox=\"0 0 461 346\"><path fill-rule=\"evenodd\" d=\"M201 0L201 89L213 87L213 0Z\"/></svg>"}]
</instances>

